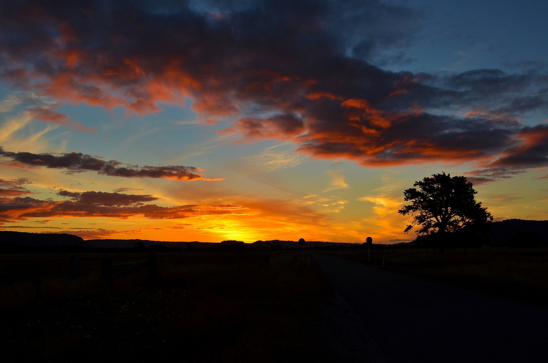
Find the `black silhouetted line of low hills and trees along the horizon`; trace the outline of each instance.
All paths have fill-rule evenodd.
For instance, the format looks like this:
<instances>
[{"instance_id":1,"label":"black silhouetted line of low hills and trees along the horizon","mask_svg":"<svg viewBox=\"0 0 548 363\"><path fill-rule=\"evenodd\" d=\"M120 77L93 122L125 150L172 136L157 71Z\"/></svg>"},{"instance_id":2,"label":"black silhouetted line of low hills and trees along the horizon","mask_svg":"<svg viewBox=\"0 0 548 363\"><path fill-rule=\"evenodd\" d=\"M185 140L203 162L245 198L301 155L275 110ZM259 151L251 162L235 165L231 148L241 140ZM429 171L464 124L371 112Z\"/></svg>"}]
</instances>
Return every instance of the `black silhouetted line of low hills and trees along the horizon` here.
<instances>
[{"instance_id":1,"label":"black silhouetted line of low hills and trees along the horizon","mask_svg":"<svg viewBox=\"0 0 548 363\"><path fill-rule=\"evenodd\" d=\"M548 220L506 219L490 225L490 231L461 230L440 236L421 236L412 242L393 245L373 243L370 248L439 247L548 247ZM300 249L297 241L269 240L244 243L227 240L214 242L164 242L150 240L83 240L71 234L0 231L0 253L27 252L193 252L193 251L279 251ZM307 241L305 249L361 249L361 243Z\"/></svg>"}]
</instances>

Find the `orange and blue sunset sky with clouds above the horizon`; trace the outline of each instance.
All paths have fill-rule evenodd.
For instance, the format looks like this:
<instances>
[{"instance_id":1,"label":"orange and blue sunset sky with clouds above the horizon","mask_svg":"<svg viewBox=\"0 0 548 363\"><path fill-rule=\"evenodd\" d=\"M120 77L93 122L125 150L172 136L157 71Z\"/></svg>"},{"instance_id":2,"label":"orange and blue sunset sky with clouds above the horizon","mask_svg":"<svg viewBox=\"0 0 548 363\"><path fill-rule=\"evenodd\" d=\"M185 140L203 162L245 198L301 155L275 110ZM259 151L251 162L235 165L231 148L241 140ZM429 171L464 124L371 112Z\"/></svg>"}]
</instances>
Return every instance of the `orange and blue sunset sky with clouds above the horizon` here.
<instances>
[{"instance_id":1,"label":"orange and blue sunset sky with clouds above the horizon","mask_svg":"<svg viewBox=\"0 0 548 363\"><path fill-rule=\"evenodd\" d=\"M0 4L0 229L396 243L403 190L548 219L548 2Z\"/></svg>"}]
</instances>

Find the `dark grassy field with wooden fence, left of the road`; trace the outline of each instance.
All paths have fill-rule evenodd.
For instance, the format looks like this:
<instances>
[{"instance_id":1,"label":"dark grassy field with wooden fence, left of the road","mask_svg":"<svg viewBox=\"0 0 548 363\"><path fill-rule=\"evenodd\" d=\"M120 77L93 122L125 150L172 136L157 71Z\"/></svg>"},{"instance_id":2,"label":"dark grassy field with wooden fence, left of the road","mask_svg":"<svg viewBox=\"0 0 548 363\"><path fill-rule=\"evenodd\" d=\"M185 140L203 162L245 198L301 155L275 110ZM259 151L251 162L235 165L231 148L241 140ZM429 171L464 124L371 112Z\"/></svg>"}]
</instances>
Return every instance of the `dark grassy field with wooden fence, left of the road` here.
<instances>
[{"instance_id":1,"label":"dark grassy field with wooden fence, left of the road","mask_svg":"<svg viewBox=\"0 0 548 363\"><path fill-rule=\"evenodd\" d=\"M0 255L2 361L280 362L333 359L318 314L333 290L295 252L158 253L147 270L101 282L100 259L146 253ZM33 297L33 260L42 297ZM13 288L6 272L13 268Z\"/></svg>"}]
</instances>

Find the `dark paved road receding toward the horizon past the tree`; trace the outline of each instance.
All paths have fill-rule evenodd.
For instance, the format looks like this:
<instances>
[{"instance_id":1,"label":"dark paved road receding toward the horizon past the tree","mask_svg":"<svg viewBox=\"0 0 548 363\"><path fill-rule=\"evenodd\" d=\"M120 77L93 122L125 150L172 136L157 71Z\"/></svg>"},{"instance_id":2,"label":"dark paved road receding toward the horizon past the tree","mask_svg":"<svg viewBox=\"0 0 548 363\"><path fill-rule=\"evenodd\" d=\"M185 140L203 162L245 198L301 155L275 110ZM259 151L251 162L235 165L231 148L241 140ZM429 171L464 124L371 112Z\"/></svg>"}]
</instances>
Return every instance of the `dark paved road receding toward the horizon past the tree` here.
<instances>
[{"instance_id":1,"label":"dark paved road receding toward the horizon past the tree","mask_svg":"<svg viewBox=\"0 0 548 363\"><path fill-rule=\"evenodd\" d=\"M546 309L321 253L314 258L387 362L548 362Z\"/></svg>"}]
</instances>

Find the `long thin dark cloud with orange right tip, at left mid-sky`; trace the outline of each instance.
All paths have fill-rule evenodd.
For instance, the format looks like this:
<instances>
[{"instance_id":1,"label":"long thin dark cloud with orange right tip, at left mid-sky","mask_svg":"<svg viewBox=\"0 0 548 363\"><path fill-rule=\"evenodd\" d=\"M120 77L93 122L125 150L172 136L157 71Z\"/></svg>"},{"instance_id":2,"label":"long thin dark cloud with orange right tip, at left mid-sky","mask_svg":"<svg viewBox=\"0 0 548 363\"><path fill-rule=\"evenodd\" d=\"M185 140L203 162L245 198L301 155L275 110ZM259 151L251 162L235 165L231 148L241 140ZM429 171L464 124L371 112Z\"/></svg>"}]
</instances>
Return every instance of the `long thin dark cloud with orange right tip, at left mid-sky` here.
<instances>
[{"instance_id":1,"label":"long thin dark cloud with orange right tip, at left mid-sky","mask_svg":"<svg viewBox=\"0 0 548 363\"><path fill-rule=\"evenodd\" d=\"M102 175L123 178L166 178L177 180L210 180L197 174L199 168L182 165L138 166L126 165L116 160L102 160L81 152L70 152L59 156L51 154L32 154L32 152L4 151L0 147L0 156L11 158L25 165L55 169L67 169L71 173L95 171Z\"/></svg>"}]
</instances>

